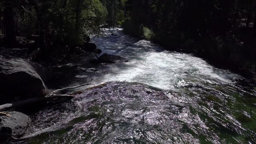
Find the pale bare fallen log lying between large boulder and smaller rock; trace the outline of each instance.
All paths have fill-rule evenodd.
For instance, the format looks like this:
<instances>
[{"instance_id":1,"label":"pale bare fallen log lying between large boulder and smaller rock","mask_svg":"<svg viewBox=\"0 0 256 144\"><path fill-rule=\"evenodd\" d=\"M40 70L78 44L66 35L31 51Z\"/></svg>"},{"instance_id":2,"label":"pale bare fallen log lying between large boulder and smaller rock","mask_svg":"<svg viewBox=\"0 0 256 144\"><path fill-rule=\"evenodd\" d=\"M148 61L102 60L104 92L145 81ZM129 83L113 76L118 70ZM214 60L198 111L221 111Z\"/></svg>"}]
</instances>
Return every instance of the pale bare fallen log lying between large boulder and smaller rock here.
<instances>
[{"instance_id":1,"label":"pale bare fallen log lying between large boulder and smaller rock","mask_svg":"<svg viewBox=\"0 0 256 144\"><path fill-rule=\"evenodd\" d=\"M3 104L0 106L0 112L3 111L8 111L14 108L19 108L22 106L26 106L28 104L33 104L33 103L37 103L37 102L46 102L55 98L73 98L74 96L72 95L68 95L68 94L50 94L46 97L38 97L38 98L29 98L26 100L21 100L18 102L13 102L10 104Z\"/></svg>"}]
</instances>

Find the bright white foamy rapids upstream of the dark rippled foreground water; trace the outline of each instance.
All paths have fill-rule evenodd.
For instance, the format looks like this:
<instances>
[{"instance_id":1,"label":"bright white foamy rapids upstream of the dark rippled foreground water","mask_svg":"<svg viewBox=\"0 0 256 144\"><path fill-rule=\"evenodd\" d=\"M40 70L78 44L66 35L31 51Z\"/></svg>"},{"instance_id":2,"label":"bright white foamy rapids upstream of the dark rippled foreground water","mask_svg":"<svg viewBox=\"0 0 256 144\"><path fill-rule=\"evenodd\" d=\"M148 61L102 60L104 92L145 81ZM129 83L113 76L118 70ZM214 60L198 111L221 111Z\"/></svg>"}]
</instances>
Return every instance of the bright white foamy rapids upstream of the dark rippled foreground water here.
<instances>
[{"instance_id":1,"label":"bright white foamy rapids upstream of the dark rippled foreground water","mask_svg":"<svg viewBox=\"0 0 256 144\"><path fill-rule=\"evenodd\" d=\"M108 81L141 82L162 89L173 89L186 85L186 82L204 79L231 83L234 77L228 70L220 70L208 64L202 58L192 54L169 52L148 40L138 40L116 31L118 36L94 37L102 53L114 54L128 58L129 62L116 64L111 72L100 78L97 84Z\"/></svg>"}]
</instances>

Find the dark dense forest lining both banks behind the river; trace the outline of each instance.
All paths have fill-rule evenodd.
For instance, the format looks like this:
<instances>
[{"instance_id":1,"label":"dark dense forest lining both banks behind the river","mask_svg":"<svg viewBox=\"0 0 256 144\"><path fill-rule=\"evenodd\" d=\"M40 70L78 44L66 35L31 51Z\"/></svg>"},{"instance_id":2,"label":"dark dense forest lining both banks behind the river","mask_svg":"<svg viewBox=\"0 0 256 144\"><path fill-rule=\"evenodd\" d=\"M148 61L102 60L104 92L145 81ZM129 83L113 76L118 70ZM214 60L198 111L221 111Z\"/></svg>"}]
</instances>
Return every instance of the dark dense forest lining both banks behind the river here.
<instances>
[{"instance_id":1,"label":"dark dense forest lining both banks behind the river","mask_svg":"<svg viewBox=\"0 0 256 144\"><path fill-rule=\"evenodd\" d=\"M255 0L3 0L0 8L7 47L36 39L33 50L47 55L50 47L72 49L103 34L102 28L121 26L168 50L255 76Z\"/></svg>"}]
</instances>

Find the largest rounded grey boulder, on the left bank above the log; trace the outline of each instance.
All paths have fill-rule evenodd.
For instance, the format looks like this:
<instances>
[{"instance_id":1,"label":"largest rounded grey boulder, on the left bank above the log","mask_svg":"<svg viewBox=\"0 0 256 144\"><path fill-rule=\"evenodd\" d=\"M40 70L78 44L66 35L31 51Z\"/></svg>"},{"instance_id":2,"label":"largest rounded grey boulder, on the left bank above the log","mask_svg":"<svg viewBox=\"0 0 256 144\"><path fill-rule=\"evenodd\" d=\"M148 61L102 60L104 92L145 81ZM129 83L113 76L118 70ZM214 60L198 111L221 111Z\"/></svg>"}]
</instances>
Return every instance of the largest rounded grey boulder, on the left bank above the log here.
<instances>
[{"instance_id":1,"label":"largest rounded grey boulder, on the left bank above the log","mask_svg":"<svg viewBox=\"0 0 256 144\"><path fill-rule=\"evenodd\" d=\"M0 55L0 104L42 96L47 69L28 60Z\"/></svg>"}]
</instances>

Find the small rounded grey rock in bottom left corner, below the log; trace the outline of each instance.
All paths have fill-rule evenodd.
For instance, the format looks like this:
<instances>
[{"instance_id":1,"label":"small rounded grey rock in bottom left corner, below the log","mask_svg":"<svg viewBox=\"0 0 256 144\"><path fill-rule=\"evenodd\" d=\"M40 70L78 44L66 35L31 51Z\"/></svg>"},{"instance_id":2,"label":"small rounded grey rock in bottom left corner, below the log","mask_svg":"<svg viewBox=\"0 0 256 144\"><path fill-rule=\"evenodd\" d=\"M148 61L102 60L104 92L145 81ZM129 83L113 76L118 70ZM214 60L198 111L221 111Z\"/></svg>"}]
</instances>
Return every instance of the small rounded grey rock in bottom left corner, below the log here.
<instances>
[{"instance_id":1,"label":"small rounded grey rock in bottom left corner, below the log","mask_svg":"<svg viewBox=\"0 0 256 144\"><path fill-rule=\"evenodd\" d=\"M30 125L30 118L21 112L10 112L12 117L0 116L0 136L14 136L25 134Z\"/></svg>"}]
</instances>

